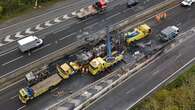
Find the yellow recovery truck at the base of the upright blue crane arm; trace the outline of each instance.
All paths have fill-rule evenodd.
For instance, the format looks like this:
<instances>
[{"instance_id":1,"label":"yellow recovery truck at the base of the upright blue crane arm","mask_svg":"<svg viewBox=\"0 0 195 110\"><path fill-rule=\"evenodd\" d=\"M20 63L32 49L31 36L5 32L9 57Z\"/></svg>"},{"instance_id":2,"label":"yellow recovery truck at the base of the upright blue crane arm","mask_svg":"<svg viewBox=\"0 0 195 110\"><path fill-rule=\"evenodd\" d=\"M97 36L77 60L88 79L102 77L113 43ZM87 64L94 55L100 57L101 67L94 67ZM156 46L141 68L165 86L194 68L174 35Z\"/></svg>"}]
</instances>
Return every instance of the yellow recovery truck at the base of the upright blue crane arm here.
<instances>
[{"instance_id":1,"label":"yellow recovery truck at the base of the upright blue crane arm","mask_svg":"<svg viewBox=\"0 0 195 110\"><path fill-rule=\"evenodd\" d=\"M115 54L113 56L113 58L114 59L112 61L106 61L106 57L105 58L101 58L101 57L94 58L89 63L89 72L92 75L96 75L100 72L103 72L105 69L107 69L110 66L114 65L115 63L123 60L123 55L122 54Z\"/></svg>"}]
</instances>

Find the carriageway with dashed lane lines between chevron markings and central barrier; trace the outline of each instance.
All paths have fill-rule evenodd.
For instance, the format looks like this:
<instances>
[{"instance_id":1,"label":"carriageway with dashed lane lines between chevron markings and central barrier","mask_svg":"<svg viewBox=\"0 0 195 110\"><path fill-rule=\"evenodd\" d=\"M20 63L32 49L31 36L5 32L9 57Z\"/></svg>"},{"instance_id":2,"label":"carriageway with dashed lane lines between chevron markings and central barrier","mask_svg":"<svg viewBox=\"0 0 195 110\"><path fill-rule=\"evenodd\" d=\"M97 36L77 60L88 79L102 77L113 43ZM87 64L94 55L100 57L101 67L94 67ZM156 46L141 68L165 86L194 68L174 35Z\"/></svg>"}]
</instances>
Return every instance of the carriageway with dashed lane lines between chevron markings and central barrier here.
<instances>
[{"instance_id":1,"label":"carriageway with dashed lane lines between chevron markings and central barrier","mask_svg":"<svg viewBox=\"0 0 195 110\"><path fill-rule=\"evenodd\" d=\"M70 26L65 25L67 22L63 22L40 31L36 33L36 35L39 36L44 34L44 45L41 48L32 51L30 54L22 54L17 48L0 54L0 75L3 76L6 73L14 71L19 67L77 41L79 39L76 37L77 35L83 34L84 32L94 33L102 29L102 27L114 24L149 8L152 5L159 3L159 1L160 0L142 2L134 9L128 9L124 1L121 1L122 3L114 1L113 5L115 4L115 7L108 9L104 15L97 15L80 22L76 22L73 19L72 21L68 21L68 23L74 22Z\"/></svg>"}]
</instances>

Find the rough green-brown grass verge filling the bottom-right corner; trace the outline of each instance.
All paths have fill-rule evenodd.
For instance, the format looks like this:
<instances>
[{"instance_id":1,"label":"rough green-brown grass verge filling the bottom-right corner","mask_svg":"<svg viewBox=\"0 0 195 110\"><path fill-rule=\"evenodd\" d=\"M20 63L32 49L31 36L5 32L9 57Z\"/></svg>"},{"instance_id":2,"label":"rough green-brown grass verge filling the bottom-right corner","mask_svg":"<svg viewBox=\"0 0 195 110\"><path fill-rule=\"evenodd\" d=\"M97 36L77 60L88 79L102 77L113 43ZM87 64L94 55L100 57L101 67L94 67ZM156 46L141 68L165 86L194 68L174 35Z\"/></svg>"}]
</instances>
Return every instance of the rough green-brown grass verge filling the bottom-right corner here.
<instances>
[{"instance_id":1,"label":"rough green-brown grass verge filling the bottom-right corner","mask_svg":"<svg viewBox=\"0 0 195 110\"><path fill-rule=\"evenodd\" d=\"M195 65L132 110L195 110Z\"/></svg>"}]
</instances>

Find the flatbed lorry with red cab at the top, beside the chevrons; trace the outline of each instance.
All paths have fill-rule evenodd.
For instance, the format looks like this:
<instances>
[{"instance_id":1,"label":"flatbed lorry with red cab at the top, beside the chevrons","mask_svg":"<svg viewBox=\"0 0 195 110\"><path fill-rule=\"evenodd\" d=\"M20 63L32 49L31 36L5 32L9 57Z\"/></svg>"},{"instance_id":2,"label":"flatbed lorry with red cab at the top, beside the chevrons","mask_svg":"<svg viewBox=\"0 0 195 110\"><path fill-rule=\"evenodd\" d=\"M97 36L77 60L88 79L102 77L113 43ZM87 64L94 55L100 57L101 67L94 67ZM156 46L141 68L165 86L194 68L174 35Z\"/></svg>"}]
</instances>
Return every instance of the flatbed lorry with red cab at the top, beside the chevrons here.
<instances>
[{"instance_id":1,"label":"flatbed lorry with red cab at the top, beside the chevrons","mask_svg":"<svg viewBox=\"0 0 195 110\"><path fill-rule=\"evenodd\" d=\"M105 11L106 7L107 3L105 0L98 0L95 4L82 8L76 13L76 17L79 19L85 19L95 14L101 14Z\"/></svg>"}]
</instances>

